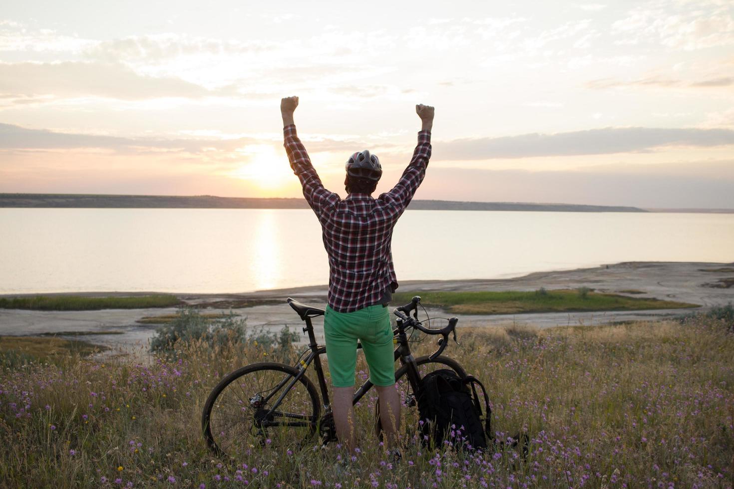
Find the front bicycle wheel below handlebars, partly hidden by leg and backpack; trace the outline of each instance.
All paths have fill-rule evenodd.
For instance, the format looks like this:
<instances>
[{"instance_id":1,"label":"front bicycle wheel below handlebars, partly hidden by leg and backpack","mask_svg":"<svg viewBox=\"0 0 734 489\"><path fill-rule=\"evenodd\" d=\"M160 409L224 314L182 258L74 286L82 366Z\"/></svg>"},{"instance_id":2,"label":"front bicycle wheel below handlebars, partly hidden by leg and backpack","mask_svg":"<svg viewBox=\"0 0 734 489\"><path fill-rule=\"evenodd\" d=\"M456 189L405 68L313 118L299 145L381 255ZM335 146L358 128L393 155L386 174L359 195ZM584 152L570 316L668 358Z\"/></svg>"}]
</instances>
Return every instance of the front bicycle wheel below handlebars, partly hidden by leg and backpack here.
<instances>
[{"instance_id":1,"label":"front bicycle wheel below handlebars, partly hidden by leg and backpack","mask_svg":"<svg viewBox=\"0 0 734 489\"><path fill-rule=\"evenodd\" d=\"M418 374L420 378L424 378L429 372L434 372L438 369L451 369L457 372L459 377L464 377L466 371L464 367L459 365L459 362L454 359L449 359L447 356L437 356L435 359L430 359L428 355L419 356L415 359L415 366L418 368ZM418 433L418 421L421 416L418 413L418 402L413 392L413 388L410 386L408 380L408 368L409 365L403 365L395 372L395 386L398 389L398 395L400 397L400 426L404 428L404 433L400 433L399 438L403 442L412 441ZM382 440L382 422L379 419L379 403L375 407L375 427L380 440Z\"/></svg>"}]
</instances>

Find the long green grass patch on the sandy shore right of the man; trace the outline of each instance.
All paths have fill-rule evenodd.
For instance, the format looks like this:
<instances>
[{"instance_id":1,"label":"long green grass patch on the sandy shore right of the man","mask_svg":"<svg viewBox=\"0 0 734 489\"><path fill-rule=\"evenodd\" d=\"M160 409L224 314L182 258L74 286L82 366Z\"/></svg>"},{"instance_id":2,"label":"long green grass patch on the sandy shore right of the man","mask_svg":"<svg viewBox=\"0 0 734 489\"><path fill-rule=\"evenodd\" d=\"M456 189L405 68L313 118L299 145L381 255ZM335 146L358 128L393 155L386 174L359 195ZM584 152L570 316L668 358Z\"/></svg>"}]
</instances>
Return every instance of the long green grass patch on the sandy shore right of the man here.
<instances>
[{"instance_id":1,"label":"long green grass patch on the sandy shore right of the man","mask_svg":"<svg viewBox=\"0 0 734 489\"><path fill-rule=\"evenodd\" d=\"M517 314L520 312L636 311L677 309L698 304L595 293L590 290L537 290L535 292L404 292L393 294L393 304L407 304L413 295L424 306L456 314Z\"/></svg>"}]
</instances>

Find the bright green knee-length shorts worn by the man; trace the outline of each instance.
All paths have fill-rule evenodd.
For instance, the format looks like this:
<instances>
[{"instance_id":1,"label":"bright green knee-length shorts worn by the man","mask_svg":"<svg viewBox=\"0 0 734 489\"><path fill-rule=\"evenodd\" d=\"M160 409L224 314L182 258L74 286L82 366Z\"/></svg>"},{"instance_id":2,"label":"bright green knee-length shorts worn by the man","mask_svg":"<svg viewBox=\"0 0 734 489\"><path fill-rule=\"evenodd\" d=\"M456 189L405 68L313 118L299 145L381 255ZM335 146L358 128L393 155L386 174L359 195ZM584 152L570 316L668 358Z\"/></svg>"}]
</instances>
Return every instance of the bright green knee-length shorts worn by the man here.
<instances>
[{"instance_id":1,"label":"bright green knee-length shorts worn by the man","mask_svg":"<svg viewBox=\"0 0 734 489\"><path fill-rule=\"evenodd\" d=\"M395 383L393 328L387 307L377 304L355 312L336 312L327 306L324 337L333 386L355 385L357 339L365 353L369 380L376 386Z\"/></svg>"}]
</instances>

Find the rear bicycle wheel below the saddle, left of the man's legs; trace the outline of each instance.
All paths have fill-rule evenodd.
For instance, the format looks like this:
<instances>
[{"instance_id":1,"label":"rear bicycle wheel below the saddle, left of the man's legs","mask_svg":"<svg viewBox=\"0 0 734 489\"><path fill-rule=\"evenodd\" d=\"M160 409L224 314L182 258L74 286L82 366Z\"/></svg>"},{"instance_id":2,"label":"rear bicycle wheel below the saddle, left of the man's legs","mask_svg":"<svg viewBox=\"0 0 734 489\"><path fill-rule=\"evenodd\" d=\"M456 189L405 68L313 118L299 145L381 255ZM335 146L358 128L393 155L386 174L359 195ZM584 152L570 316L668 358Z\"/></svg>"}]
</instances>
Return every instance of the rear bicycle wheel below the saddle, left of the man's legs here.
<instances>
[{"instance_id":1,"label":"rear bicycle wheel below the saddle, left of the man's legs","mask_svg":"<svg viewBox=\"0 0 734 489\"><path fill-rule=\"evenodd\" d=\"M286 364L236 369L209 394L201 427L209 449L234 457L254 446L283 449L316 433L319 395L305 375Z\"/></svg>"}]
</instances>

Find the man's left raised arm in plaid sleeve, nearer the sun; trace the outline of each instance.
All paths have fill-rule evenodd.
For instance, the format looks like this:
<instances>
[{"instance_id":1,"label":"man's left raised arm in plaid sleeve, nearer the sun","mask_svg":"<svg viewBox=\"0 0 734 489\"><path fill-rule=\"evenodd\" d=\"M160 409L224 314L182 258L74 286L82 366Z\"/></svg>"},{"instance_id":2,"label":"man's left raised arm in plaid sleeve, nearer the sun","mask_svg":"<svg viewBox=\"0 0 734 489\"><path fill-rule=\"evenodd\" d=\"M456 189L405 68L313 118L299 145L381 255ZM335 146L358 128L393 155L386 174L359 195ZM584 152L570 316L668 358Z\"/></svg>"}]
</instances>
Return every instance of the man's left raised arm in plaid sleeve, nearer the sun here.
<instances>
[{"instance_id":1,"label":"man's left raised arm in plaid sleeve, nearer the sun","mask_svg":"<svg viewBox=\"0 0 734 489\"><path fill-rule=\"evenodd\" d=\"M308 158L306 148L298 139L296 125L293 120L293 113L297 106L298 97L286 97L280 100L280 115L283 116L283 146L286 147L293 172L301 181L306 202L314 212L320 213L327 207L339 202L339 196L324 188L319 174L316 173L316 169L313 168L311 160Z\"/></svg>"}]
</instances>

